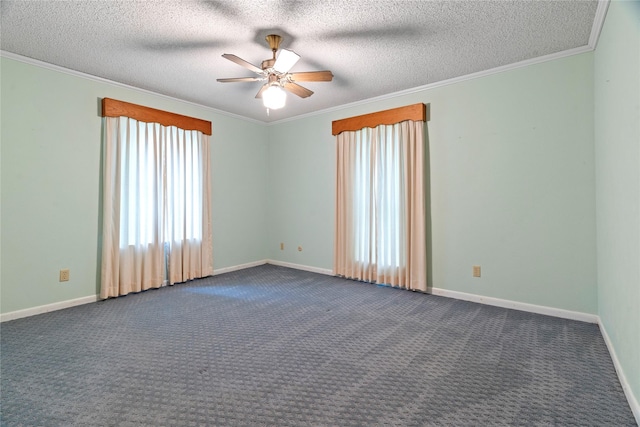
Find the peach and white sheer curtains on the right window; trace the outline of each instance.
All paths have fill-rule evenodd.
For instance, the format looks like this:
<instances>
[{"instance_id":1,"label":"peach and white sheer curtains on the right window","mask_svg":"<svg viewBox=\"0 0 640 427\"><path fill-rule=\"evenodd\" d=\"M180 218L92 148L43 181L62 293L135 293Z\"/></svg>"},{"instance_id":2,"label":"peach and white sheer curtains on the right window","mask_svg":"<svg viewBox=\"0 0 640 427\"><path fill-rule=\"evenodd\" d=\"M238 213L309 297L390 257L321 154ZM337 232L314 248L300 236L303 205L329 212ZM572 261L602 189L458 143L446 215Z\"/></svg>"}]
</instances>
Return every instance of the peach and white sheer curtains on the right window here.
<instances>
[{"instance_id":1,"label":"peach and white sheer curtains on the right window","mask_svg":"<svg viewBox=\"0 0 640 427\"><path fill-rule=\"evenodd\" d=\"M424 123L336 140L335 274L426 291Z\"/></svg>"}]
</instances>

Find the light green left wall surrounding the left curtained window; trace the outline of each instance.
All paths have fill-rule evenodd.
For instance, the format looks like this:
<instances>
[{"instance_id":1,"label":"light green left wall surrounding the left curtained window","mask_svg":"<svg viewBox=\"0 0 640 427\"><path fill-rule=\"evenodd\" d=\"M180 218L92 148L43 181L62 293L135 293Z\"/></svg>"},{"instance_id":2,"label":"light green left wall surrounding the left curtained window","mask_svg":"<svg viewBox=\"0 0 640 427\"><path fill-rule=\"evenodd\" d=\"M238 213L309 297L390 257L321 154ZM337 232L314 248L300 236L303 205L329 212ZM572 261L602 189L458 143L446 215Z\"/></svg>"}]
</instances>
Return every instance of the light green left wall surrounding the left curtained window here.
<instances>
[{"instance_id":1,"label":"light green left wall surrounding the left curtained window","mask_svg":"<svg viewBox=\"0 0 640 427\"><path fill-rule=\"evenodd\" d=\"M2 313L98 291L103 97L211 120L214 267L265 258L264 125L6 57L0 67Z\"/></svg>"}]
</instances>

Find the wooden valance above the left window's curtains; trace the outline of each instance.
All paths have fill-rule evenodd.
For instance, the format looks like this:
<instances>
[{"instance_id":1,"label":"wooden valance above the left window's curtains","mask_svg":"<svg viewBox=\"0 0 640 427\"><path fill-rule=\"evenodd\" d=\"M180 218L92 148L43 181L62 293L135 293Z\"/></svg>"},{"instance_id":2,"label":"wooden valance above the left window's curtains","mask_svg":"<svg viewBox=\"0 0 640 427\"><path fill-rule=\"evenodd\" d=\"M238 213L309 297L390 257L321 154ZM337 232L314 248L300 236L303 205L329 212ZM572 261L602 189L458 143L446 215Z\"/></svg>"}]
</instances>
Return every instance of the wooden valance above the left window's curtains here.
<instances>
[{"instance_id":1,"label":"wooden valance above the left window's curtains","mask_svg":"<svg viewBox=\"0 0 640 427\"><path fill-rule=\"evenodd\" d=\"M211 122L209 121L111 98L102 98L102 117L121 116L130 117L146 123L160 123L163 126L175 126L185 130L198 130L205 135L211 135Z\"/></svg>"}]
</instances>

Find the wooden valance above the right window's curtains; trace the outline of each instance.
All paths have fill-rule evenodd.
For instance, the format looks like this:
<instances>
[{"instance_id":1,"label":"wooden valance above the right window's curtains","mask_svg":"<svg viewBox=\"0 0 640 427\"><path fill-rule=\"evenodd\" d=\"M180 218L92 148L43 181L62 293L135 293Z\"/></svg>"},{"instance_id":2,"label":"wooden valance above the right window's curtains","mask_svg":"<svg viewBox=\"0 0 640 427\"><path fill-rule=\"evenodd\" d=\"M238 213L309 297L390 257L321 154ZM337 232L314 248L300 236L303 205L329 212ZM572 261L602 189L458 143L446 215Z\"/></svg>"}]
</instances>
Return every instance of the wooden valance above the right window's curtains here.
<instances>
[{"instance_id":1,"label":"wooden valance above the right window's curtains","mask_svg":"<svg viewBox=\"0 0 640 427\"><path fill-rule=\"evenodd\" d=\"M332 122L332 133L333 135L338 135L344 131L356 131L366 127L374 128L380 125L393 125L405 120L426 122L429 120L427 106L422 103L413 104L377 113L349 117L348 119L335 120Z\"/></svg>"}]
</instances>

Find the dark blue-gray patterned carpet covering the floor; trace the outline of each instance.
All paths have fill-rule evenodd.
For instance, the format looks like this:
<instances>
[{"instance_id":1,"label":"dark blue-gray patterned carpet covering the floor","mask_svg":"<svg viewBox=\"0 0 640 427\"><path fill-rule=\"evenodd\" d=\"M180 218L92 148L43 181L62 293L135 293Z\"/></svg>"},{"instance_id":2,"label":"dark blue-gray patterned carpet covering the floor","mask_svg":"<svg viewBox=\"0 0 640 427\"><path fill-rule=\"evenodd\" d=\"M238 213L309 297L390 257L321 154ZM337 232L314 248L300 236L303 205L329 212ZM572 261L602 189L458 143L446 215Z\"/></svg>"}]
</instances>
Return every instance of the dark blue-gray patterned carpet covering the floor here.
<instances>
[{"instance_id":1,"label":"dark blue-gray patterned carpet covering the floor","mask_svg":"<svg viewBox=\"0 0 640 427\"><path fill-rule=\"evenodd\" d=\"M1 326L7 426L633 426L597 325L265 265Z\"/></svg>"}]
</instances>

